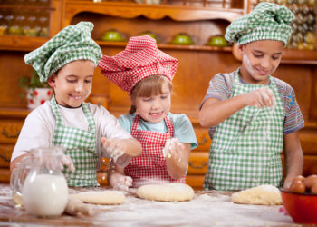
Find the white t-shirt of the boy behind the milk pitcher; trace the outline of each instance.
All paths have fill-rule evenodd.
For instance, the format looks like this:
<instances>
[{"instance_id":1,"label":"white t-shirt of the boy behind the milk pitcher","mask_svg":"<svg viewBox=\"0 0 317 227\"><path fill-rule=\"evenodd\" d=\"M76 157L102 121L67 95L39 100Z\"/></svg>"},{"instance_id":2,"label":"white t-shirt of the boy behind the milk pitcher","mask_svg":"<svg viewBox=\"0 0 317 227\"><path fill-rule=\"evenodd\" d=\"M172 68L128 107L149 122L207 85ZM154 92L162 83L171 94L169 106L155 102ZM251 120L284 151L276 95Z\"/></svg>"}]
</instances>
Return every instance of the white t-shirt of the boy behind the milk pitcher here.
<instances>
[{"instance_id":1,"label":"white t-shirt of the boy behind the milk pitcher","mask_svg":"<svg viewBox=\"0 0 317 227\"><path fill-rule=\"evenodd\" d=\"M88 130L89 126L82 111L82 106L78 108L66 108L59 104L57 106L62 115L62 123L65 126ZM96 124L96 150L101 159L101 136L126 139L131 138L131 135L121 127L116 117L110 114L103 106L89 103L87 106ZM11 161L24 153L28 153L33 148L53 146L55 124L55 116L49 101L46 101L28 114L15 144Z\"/></svg>"}]
</instances>

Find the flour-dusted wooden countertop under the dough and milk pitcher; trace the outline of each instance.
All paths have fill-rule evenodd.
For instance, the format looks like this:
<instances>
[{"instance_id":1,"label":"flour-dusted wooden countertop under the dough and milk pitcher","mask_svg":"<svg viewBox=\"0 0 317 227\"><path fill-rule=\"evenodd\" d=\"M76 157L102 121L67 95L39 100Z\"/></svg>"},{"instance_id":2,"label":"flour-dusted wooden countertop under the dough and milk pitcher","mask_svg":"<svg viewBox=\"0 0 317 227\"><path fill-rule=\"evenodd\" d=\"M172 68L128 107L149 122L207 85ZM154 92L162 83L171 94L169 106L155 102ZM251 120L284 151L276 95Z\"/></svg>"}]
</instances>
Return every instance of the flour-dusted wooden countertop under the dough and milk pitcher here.
<instances>
[{"instance_id":1,"label":"flour-dusted wooden countertop under the dough and milk pitcher","mask_svg":"<svg viewBox=\"0 0 317 227\"><path fill-rule=\"evenodd\" d=\"M94 188L102 191L106 188ZM70 193L88 189L70 189ZM135 190L126 192L120 205L93 205L90 217L63 214L41 219L14 208L8 184L0 183L0 225L96 225L96 226L300 226L290 216L278 212L281 206L243 205L230 200L230 192L198 191L190 202L152 202L139 199Z\"/></svg>"}]
</instances>

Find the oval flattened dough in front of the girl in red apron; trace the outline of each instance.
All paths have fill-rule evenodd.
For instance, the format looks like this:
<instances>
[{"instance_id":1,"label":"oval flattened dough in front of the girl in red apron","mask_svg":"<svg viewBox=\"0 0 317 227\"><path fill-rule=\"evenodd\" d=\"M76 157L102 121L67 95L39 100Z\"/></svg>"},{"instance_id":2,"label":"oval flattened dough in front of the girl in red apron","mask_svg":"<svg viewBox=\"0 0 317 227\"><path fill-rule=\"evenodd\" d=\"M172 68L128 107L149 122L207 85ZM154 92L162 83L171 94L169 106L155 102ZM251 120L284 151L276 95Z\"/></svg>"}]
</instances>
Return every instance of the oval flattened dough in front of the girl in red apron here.
<instances>
[{"instance_id":1,"label":"oval flattened dough in front of the girl in red apron","mask_svg":"<svg viewBox=\"0 0 317 227\"><path fill-rule=\"evenodd\" d=\"M194 194L194 190L185 183L148 184L137 190L139 198L151 201L189 201Z\"/></svg>"}]
</instances>

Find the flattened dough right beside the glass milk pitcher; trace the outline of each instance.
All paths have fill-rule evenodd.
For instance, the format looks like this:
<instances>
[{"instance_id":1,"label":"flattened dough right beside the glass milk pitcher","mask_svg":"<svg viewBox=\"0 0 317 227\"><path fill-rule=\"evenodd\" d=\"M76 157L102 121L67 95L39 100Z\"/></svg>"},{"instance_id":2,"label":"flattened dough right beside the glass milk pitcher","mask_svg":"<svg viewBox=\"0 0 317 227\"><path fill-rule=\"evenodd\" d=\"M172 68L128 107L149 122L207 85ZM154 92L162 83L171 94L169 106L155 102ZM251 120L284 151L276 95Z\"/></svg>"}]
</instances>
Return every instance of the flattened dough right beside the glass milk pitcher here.
<instances>
[{"instance_id":1,"label":"flattened dough right beside the glass milk pitcher","mask_svg":"<svg viewBox=\"0 0 317 227\"><path fill-rule=\"evenodd\" d=\"M79 192L70 196L80 199L85 203L100 204L100 205L115 205L125 201L126 196L120 191L105 191L105 192Z\"/></svg>"}]
</instances>

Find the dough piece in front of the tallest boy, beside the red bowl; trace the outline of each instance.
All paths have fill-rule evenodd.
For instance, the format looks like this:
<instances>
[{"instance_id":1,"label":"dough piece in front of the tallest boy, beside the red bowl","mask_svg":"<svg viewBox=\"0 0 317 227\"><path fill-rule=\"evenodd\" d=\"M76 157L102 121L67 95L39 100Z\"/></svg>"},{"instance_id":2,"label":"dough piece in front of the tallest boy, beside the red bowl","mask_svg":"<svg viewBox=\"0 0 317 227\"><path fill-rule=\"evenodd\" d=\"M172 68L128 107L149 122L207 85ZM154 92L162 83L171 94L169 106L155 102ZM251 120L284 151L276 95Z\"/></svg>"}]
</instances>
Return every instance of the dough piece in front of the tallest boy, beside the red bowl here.
<instances>
[{"instance_id":1,"label":"dough piece in front of the tallest boy, beside the red bowl","mask_svg":"<svg viewBox=\"0 0 317 227\"><path fill-rule=\"evenodd\" d=\"M278 188L264 184L233 193L231 201L242 204L281 205L282 197Z\"/></svg>"}]
</instances>

